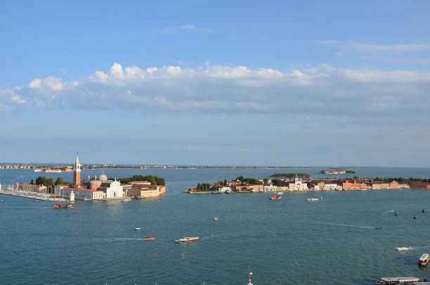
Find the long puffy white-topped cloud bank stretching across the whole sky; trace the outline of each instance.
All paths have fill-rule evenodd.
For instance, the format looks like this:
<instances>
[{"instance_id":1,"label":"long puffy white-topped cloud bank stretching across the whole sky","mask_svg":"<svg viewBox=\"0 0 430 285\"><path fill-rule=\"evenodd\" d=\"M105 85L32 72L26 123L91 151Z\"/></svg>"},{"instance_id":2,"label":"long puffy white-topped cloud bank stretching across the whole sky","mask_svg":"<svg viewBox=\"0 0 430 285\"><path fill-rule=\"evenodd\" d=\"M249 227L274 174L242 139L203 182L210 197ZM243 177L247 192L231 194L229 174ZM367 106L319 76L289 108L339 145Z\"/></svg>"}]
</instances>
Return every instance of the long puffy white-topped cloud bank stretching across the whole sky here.
<instances>
[{"instance_id":1,"label":"long puffy white-topped cloud bank stretching across the whole sky","mask_svg":"<svg viewBox=\"0 0 430 285\"><path fill-rule=\"evenodd\" d=\"M429 125L430 73L344 69L123 68L114 63L80 80L32 80L0 90L0 111L127 110L249 113L327 120L419 120Z\"/></svg>"}]
</instances>

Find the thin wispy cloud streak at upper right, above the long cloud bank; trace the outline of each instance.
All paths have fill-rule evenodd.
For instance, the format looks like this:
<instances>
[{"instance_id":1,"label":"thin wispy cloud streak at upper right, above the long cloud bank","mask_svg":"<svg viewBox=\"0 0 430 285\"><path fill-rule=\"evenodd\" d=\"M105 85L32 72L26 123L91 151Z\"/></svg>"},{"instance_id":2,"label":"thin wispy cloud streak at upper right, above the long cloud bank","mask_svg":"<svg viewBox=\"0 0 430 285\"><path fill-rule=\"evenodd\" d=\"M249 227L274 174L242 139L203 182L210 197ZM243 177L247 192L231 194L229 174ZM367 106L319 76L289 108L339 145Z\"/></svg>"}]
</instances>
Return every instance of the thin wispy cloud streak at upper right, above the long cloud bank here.
<instances>
[{"instance_id":1,"label":"thin wispy cloud streak at upper right, above the long cloud bank","mask_svg":"<svg viewBox=\"0 0 430 285\"><path fill-rule=\"evenodd\" d=\"M365 44L335 39L317 41L316 44L334 46L338 49L370 51L370 52L406 52L430 50L430 44Z\"/></svg>"}]
</instances>

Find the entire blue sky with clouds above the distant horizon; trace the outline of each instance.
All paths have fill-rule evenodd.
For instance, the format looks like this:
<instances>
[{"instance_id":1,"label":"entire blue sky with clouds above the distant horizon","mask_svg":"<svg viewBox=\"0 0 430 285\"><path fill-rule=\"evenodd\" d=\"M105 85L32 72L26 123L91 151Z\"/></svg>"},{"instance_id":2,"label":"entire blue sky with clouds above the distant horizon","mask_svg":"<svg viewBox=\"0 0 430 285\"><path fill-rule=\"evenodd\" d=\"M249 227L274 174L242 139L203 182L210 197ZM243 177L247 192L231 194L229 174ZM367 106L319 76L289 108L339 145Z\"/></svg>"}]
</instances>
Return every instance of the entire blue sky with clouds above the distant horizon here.
<instances>
[{"instance_id":1,"label":"entire blue sky with clouds above the distant horizon","mask_svg":"<svg viewBox=\"0 0 430 285\"><path fill-rule=\"evenodd\" d=\"M1 1L0 162L430 167L430 1Z\"/></svg>"}]
</instances>

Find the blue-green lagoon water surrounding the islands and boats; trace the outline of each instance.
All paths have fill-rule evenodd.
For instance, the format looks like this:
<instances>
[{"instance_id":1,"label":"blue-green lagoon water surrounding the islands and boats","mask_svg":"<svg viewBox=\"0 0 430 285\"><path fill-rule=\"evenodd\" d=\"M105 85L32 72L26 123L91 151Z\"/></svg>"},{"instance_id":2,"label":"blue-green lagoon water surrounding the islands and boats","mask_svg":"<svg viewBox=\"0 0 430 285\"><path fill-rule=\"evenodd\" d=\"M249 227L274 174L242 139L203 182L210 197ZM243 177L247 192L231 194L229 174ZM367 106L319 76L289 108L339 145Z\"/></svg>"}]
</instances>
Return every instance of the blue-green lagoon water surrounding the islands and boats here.
<instances>
[{"instance_id":1,"label":"blue-green lagoon water surrounding the islands and boats","mask_svg":"<svg viewBox=\"0 0 430 285\"><path fill-rule=\"evenodd\" d=\"M327 177L318 174L321 169L105 170L108 177L159 175L167 181L167 194L128 203L76 201L72 209L0 195L0 284L240 285L247 283L248 270L255 285L430 279L429 270L417 265L422 253L430 253L430 191L286 193L280 201L269 201L270 194L182 193L197 182L240 175ZM357 170L361 177L430 177L429 168ZM82 178L88 174L100 170L83 171ZM29 182L39 175L0 170L0 182ZM71 173L61 176L72 180ZM305 201L320 196L318 202ZM201 241L174 242L183 236ZM398 246L410 250L398 252Z\"/></svg>"}]
</instances>

